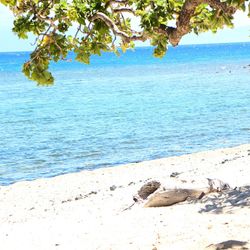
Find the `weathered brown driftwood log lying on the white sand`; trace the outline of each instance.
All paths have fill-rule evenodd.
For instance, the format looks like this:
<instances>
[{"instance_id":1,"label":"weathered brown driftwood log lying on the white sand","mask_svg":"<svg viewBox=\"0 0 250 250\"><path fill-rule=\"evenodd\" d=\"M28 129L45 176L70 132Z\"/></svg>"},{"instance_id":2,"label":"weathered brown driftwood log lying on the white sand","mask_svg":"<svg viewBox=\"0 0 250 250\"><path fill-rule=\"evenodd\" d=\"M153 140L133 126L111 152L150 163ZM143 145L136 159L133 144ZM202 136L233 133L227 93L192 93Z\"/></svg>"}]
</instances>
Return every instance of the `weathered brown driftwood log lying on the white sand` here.
<instances>
[{"instance_id":1,"label":"weathered brown driftwood log lying on the white sand","mask_svg":"<svg viewBox=\"0 0 250 250\"><path fill-rule=\"evenodd\" d=\"M176 188L166 190L158 181L150 181L144 184L137 195L134 196L135 202L142 202L144 207L164 207L171 206L187 199L201 199L206 194L212 192L222 192L230 189L229 185L218 179L208 179L207 188Z\"/></svg>"}]
</instances>

